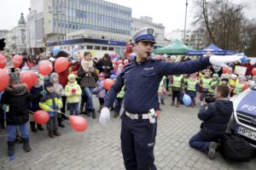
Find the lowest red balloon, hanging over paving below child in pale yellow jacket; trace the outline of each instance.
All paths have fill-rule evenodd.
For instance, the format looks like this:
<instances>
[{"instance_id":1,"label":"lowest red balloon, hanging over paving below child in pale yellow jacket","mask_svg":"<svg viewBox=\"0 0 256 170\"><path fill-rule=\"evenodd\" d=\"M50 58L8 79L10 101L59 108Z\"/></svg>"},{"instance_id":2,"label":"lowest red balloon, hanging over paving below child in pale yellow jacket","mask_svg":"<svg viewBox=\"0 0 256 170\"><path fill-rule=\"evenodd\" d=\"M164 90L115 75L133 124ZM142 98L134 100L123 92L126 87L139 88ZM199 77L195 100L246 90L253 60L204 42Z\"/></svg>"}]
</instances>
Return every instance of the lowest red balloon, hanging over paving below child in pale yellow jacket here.
<instances>
[{"instance_id":1,"label":"lowest red balloon, hanging over paving below child in pale yellow jacket","mask_svg":"<svg viewBox=\"0 0 256 170\"><path fill-rule=\"evenodd\" d=\"M68 116L71 127L77 132L83 132L87 129L87 122L82 116Z\"/></svg>"}]
</instances>

